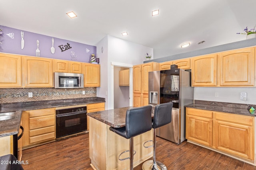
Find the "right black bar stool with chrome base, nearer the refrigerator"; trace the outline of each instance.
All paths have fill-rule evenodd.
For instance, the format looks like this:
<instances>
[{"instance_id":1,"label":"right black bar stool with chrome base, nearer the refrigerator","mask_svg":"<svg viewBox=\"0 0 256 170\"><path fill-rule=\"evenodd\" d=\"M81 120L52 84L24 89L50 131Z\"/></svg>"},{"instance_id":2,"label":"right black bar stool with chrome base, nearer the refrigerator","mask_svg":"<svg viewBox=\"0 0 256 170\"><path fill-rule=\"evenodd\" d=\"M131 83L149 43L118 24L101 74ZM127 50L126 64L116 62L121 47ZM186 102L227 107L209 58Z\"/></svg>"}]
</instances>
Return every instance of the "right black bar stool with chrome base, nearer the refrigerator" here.
<instances>
[{"instance_id":1,"label":"right black bar stool with chrome base, nearer the refrigerator","mask_svg":"<svg viewBox=\"0 0 256 170\"><path fill-rule=\"evenodd\" d=\"M162 162L156 161L156 128L166 125L172 121L172 106L173 103L169 102L164 104L158 104L155 107L154 119L152 122L152 128L154 129L154 139L153 145L149 146L153 147L153 160L145 161L142 164L142 170L167 170L166 166Z\"/></svg>"}]
</instances>

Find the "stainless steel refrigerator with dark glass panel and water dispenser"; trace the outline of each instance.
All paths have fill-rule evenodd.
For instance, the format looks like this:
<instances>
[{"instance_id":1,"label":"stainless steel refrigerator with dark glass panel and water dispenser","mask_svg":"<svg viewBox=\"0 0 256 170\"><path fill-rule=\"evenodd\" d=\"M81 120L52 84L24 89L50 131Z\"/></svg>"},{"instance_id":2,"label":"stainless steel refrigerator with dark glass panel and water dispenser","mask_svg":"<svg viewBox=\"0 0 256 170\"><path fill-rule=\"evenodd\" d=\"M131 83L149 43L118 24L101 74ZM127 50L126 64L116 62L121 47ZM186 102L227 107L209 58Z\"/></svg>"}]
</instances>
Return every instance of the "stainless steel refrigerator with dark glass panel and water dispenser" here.
<instances>
[{"instance_id":1,"label":"stainless steel refrigerator with dark glass panel and water dispenser","mask_svg":"<svg viewBox=\"0 0 256 170\"><path fill-rule=\"evenodd\" d=\"M191 87L191 72L183 69L152 71L148 73L148 102L157 104L172 102L172 121L156 129L156 135L182 143L185 137L185 105L192 104L194 88ZM153 109L154 110L154 109Z\"/></svg>"}]
</instances>

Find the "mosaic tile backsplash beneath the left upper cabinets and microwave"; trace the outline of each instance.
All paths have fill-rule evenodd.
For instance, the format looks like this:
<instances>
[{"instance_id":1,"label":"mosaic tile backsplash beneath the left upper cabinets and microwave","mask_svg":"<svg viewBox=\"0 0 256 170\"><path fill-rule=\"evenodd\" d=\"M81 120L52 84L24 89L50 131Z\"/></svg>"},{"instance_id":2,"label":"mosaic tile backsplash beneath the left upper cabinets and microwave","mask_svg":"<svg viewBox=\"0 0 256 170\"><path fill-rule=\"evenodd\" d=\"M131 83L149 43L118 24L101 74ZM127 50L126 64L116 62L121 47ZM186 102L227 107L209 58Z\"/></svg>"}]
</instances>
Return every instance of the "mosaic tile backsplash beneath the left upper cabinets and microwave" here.
<instances>
[{"instance_id":1,"label":"mosaic tile backsplash beneath the left upper cabinets and microwave","mask_svg":"<svg viewBox=\"0 0 256 170\"><path fill-rule=\"evenodd\" d=\"M83 94L85 91L85 94ZM28 97L32 92L33 97ZM56 88L1 88L0 103L32 102L72 98L96 97L96 87L56 89Z\"/></svg>"}]
</instances>

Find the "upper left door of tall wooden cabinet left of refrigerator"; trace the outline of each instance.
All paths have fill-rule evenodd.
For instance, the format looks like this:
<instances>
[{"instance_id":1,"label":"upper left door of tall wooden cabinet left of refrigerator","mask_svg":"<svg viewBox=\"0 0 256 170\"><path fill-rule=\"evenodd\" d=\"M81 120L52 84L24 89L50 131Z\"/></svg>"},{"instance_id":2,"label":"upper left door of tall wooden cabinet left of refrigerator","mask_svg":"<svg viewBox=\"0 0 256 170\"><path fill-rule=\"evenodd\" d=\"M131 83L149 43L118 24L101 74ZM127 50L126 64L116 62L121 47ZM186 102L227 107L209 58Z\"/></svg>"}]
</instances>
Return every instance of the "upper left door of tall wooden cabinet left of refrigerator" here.
<instances>
[{"instance_id":1,"label":"upper left door of tall wooden cabinet left of refrigerator","mask_svg":"<svg viewBox=\"0 0 256 170\"><path fill-rule=\"evenodd\" d=\"M133 92L141 93L141 65L133 66Z\"/></svg>"}]
</instances>

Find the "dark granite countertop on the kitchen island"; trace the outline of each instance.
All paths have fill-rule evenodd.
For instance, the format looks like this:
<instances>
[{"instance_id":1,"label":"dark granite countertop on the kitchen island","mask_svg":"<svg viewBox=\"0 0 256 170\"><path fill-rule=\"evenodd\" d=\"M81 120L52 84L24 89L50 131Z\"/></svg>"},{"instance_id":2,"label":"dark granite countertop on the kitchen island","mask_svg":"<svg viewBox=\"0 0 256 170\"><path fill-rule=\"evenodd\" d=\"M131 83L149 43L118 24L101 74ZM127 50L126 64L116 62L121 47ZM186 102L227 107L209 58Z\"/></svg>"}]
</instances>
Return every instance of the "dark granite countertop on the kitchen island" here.
<instances>
[{"instance_id":1,"label":"dark granite countertop on the kitchen island","mask_svg":"<svg viewBox=\"0 0 256 170\"><path fill-rule=\"evenodd\" d=\"M96 111L92 113L87 113L87 115L103 123L106 123L111 127L119 128L119 127L125 126L126 110L133 107L134 106L129 106L129 107L122 107L118 109ZM152 117L154 117L153 107L152 107Z\"/></svg>"}]
</instances>

